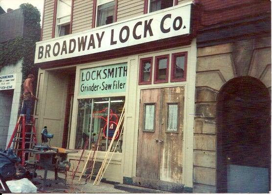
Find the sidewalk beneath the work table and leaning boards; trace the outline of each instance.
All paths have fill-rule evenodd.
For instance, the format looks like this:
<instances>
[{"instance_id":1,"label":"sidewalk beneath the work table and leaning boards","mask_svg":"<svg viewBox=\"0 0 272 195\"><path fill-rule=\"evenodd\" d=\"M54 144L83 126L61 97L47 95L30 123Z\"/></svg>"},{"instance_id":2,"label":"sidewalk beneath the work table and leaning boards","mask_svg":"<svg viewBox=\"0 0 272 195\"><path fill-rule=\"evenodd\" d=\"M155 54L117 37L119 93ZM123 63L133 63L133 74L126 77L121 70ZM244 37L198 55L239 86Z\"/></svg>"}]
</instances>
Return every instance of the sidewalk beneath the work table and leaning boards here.
<instances>
[{"instance_id":1,"label":"sidewalk beneath the work table and leaning boards","mask_svg":"<svg viewBox=\"0 0 272 195\"><path fill-rule=\"evenodd\" d=\"M44 175L43 170L37 170L36 173L38 177ZM58 174L58 176L65 178L64 174ZM54 178L54 172L48 171L47 178ZM114 189L113 184L100 182L99 185L93 186L93 180L90 182L90 179L88 179L87 183L85 183L85 178L82 178L80 182L78 179L79 177L75 176L75 178L71 180L71 176L68 176L67 185L64 183L52 184L51 186L45 187L45 189L42 189L42 187L39 188L39 185L37 186L37 193L128 193L126 191Z\"/></svg>"}]
</instances>

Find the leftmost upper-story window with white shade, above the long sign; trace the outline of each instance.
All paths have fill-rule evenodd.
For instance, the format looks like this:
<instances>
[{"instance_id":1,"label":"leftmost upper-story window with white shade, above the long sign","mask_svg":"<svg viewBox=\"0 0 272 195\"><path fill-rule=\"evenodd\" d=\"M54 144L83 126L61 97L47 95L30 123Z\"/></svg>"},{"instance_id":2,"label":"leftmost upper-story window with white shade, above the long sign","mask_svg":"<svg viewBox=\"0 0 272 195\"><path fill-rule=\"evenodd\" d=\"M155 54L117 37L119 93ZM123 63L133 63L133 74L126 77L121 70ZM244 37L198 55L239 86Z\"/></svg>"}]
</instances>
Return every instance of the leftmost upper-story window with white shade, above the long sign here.
<instances>
[{"instance_id":1,"label":"leftmost upper-story window with white shade, above the long sign","mask_svg":"<svg viewBox=\"0 0 272 195\"><path fill-rule=\"evenodd\" d=\"M70 34L72 0L58 0L55 37Z\"/></svg>"}]
</instances>

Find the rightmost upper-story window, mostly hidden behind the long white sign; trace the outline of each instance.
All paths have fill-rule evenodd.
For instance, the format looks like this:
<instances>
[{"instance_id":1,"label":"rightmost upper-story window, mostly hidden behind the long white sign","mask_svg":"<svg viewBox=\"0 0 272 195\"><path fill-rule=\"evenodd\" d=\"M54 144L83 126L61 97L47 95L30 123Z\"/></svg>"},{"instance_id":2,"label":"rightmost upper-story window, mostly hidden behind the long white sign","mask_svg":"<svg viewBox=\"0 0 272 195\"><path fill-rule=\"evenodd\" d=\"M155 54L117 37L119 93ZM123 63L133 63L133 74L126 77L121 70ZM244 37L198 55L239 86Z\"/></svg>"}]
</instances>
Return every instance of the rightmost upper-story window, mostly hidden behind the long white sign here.
<instances>
[{"instance_id":1,"label":"rightmost upper-story window, mostly hidden behind the long white sign","mask_svg":"<svg viewBox=\"0 0 272 195\"><path fill-rule=\"evenodd\" d=\"M177 0L145 0L145 14L177 5Z\"/></svg>"}]
</instances>

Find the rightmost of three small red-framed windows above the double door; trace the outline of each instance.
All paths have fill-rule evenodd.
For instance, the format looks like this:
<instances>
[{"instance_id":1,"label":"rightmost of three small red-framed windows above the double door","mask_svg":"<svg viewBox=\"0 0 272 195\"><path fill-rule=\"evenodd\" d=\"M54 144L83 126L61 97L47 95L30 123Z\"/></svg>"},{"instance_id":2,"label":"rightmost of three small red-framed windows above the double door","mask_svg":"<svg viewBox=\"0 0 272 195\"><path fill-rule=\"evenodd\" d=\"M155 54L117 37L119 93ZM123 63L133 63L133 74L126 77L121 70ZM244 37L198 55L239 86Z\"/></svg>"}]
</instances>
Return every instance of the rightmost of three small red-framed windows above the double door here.
<instances>
[{"instance_id":1,"label":"rightmost of three small red-framed windows above the double door","mask_svg":"<svg viewBox=\"0 0 272 195\"><path fill-rule=\"evenodd\" d=\"M187 70L187 52L172 54L171 82L185 81Z\"/></svg>"}]
</instances>

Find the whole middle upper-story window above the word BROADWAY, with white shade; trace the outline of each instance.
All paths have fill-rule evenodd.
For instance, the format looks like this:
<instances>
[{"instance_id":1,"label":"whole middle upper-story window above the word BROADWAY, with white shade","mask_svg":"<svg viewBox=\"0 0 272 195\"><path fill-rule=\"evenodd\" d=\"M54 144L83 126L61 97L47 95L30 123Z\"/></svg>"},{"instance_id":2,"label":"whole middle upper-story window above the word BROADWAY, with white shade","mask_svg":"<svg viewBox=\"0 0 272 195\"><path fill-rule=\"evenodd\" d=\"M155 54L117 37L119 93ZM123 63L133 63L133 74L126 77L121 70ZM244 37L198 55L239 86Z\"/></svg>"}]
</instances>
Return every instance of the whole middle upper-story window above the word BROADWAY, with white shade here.
<instances>
[{"instance_id":1,"label":"whole middle upper-story window above the word BROADWAY, with white shade","mask_svg":"<svg viewBox=\"0 0 272 195\"><path fill-rule=\"evenodd\" d=\"M97 0L96 10L96 27L113 23L115 0Z\"/></svg>"}]
</instances>

